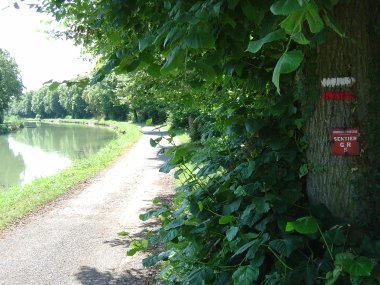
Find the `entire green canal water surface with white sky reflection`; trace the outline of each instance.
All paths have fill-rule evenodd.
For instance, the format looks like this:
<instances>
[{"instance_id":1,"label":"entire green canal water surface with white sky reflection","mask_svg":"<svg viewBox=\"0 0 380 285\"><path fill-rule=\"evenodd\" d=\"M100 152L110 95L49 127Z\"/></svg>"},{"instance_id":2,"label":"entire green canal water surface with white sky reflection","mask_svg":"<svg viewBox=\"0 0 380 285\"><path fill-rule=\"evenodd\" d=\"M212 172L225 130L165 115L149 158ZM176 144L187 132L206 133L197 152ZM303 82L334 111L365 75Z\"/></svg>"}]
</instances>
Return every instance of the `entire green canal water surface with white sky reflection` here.
<instances>
[{"instance_id":1,"label":"entire green canal water surface with white sky reflection","mask_svg":"<svg viewBox=\"0 0 380 285\"><path fill-rule=\"evenodd\" d=\"M115 136L105 127L44 123L0 135L0 189L54 175L74 159L96 153Z\"/></svg>"}]
</instances>

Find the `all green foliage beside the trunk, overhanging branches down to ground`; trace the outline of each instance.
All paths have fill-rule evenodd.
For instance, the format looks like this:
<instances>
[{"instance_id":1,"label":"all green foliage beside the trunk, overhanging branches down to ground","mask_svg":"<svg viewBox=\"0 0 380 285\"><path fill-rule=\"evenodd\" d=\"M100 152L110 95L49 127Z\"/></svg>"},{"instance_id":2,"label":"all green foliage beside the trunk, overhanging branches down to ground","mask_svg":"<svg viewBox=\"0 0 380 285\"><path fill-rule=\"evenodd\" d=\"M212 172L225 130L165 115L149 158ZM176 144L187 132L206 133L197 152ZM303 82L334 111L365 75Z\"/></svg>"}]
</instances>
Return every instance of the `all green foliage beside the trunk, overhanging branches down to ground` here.
<instances>
[{"instance_id":1,"label":"all green foliage beside the trunk, overhanging branches down to ground","mask_svg":"<svg viewBox=\"0 0 380 285\"><path fill-rule=\"evenodd\" d=\"M302 82L313 84L313 78L302 78L299 67L307 68L303 60L329 32L344 36L330 16L337 3L46 0L39 5L65 23L67 37L101 56L104 64L93 82L111 71L146 70L152 78L185 81L172 85L172 94L191 97L179 104L187 110L194 98L207 98L197 101L202 107L194 120L203 119L201 139L170 149L161 169L174 170L182 181L174 203L141 216L159 217L162 225L129 251L163 245L144 261L163 264L162 284L380 282L376 236L337 220L323 206L310 206L304 196L303 126L318 95L305 98ZM185 86L202 96L182 93Z\"/></svg>"}]
</instances>

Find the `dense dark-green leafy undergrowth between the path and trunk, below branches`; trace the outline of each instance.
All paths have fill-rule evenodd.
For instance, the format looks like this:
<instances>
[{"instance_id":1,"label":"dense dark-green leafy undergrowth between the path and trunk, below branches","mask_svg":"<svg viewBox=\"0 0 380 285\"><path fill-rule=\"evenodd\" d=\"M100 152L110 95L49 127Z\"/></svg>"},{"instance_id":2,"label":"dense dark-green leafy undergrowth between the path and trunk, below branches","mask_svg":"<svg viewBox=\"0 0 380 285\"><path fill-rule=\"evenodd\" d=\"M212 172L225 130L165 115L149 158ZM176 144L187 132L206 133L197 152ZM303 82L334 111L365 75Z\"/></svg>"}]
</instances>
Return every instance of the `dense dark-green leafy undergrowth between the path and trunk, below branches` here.
<instances>
[{"instance_id":1,"label":"dense dark-green leafy undergrowth between the path and trunk, below branches","mask_svg":"<svg viewBox=\"0 0 380 285\"><path fill-rule=\"evenodd\" d=\"M289 94L245 94L215 104L207 120L198 118L201 139L168 151L161 171L174 169L181 181L173 203L141 216L162 221L147 239L164 250L144 260L145 266L162 262L158 282L380 282L375 231L307 201L302 125L310 106ZM132 243L129 253L146 244Z\"/></svg>"}]
</instances>

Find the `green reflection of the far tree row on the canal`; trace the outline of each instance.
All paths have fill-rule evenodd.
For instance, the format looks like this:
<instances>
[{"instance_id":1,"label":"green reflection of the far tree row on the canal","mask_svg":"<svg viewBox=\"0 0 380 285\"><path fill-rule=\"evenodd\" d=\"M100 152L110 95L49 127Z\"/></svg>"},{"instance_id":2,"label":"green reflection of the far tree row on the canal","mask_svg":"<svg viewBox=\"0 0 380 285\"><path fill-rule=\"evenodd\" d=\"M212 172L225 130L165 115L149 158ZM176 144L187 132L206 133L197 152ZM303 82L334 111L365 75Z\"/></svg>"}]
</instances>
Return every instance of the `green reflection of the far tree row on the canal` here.
<instances>
[{"instance_id":1,"label":"green reflection of the far tree row on the canal","mask_svg":"<svg viewBox=\"0 0 380 285\"><path fill-rule=\"evenodd\" d=\"M114 132L100 127L49 124L25 128L12 135L18 142L39 147L48 152L59 152L71 159L96 153L114 136Z\"/></svg>"}]
</instances>

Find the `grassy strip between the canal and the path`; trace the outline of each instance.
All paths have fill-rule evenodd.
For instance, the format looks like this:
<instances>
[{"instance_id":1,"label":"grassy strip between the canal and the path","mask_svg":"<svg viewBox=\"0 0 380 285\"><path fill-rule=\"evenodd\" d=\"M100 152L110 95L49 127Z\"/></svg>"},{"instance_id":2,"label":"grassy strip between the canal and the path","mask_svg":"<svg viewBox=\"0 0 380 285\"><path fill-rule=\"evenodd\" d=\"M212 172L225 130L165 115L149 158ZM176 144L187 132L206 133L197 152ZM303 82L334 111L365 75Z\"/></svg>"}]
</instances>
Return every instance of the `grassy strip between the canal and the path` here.
<instances>
[{"instance_id":1,"label":"grassy strip between the canal and the path","mask_svg":"<svg viewBox=\"0 0 380 285\"><path fill-rule=\"evenodd\" d=\"M54 176L36 179L24 187L0 190L0 229L93 177L142 135L138 126L133 124L111 121L107 121L107 124L122 134L95 155L74 161L70 167Z\"/></svg>"}]
</instances>

